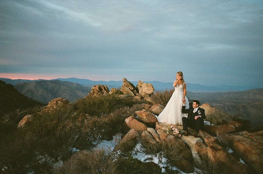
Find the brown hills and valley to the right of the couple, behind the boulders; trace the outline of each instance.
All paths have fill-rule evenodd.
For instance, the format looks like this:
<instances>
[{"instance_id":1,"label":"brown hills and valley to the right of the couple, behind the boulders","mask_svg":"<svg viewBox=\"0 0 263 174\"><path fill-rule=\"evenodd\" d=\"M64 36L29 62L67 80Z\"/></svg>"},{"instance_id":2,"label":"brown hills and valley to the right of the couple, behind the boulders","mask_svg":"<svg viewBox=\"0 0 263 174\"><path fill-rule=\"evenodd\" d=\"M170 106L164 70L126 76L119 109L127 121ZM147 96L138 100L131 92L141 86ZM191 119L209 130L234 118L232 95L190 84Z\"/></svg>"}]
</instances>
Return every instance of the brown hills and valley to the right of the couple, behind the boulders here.
<instances>
[{"instance_id":1,"label":"brown hills and valley to the right of the couple, behind the boulders","mask_svg":"<svg viewBox=\"0 0 263 174\"><path fill-rule=\"evenodd\" d=\"M207 103L230 115L249 120L252 128L263 128L263 88L234 92L186 94L190 99Z\"/></svg>"}]
</instances>

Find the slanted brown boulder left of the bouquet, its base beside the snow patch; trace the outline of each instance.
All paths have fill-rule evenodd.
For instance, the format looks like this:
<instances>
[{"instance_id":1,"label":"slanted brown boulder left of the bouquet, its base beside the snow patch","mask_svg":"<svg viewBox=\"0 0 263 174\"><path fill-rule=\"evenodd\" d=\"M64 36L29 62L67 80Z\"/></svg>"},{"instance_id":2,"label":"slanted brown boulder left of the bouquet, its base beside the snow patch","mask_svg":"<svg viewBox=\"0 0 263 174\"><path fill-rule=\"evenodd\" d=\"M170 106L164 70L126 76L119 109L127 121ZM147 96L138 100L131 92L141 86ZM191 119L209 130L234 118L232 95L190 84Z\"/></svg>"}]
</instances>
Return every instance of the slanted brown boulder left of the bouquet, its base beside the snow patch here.
<instances>
[{"instance_id":1,"label":"slanted brown boulder left of the bouquet, its base beside the snow patch","mask_svg":"<svg viewBox=\"0 0 263 174\"><path fill-rule=\"evenodd\" d=\"M131 129L119 142L117 146L114 147L113 151L121 150L128 152L133 150L136 146L138 131Z\"/></svg>"}]
</instances>

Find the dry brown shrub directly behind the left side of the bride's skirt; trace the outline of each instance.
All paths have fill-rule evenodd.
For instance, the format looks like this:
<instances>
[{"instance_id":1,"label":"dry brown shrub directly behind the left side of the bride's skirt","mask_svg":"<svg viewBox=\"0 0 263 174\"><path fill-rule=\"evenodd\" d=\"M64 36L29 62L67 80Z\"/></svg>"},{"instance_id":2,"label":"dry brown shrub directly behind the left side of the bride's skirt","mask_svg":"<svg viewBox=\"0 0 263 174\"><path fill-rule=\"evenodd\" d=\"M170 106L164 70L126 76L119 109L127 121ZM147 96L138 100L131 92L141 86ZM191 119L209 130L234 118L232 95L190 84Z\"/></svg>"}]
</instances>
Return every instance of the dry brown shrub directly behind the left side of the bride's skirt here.
<instances>
[{"instance_id":1,"label":"dry brown shrub directly behind the left side of the bride's skirt","mask_svg":"<svg viewBox=\"0 0 263 174\"><path fill-rule=\"evenodd\" d=\"M163 106L166 106L173 92L174 89L170 89L170 90L165 89L164 91L156 91L153 95L151 95L150 98L153 101L153 104L161 104Z\"/></svg>"}]
</instances>

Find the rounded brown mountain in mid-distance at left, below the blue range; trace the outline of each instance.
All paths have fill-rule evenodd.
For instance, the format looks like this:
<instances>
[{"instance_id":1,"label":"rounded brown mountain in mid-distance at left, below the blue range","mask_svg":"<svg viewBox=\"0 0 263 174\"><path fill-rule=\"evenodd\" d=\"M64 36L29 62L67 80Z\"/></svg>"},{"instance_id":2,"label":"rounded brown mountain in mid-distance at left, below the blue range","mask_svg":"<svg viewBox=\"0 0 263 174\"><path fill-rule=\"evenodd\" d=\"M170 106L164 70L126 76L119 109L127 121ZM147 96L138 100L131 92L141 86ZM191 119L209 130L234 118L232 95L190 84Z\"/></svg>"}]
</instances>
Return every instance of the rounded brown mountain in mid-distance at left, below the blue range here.
<instances>
[{"instance_id":1,"label":"rounded brown mountain in mid-distance at left, below the blue range","mask_svg":"<svg viewBox=\"0 0 263 174\"><path fill-rule=\"evenodd\" d=\"M44 103L58 97L74 102L78 98L83 98L91 90L90 87L84 87L78 83L59 80L23 82L16 84L15 88L27 97Z\"/></svg>"}]
</instances>

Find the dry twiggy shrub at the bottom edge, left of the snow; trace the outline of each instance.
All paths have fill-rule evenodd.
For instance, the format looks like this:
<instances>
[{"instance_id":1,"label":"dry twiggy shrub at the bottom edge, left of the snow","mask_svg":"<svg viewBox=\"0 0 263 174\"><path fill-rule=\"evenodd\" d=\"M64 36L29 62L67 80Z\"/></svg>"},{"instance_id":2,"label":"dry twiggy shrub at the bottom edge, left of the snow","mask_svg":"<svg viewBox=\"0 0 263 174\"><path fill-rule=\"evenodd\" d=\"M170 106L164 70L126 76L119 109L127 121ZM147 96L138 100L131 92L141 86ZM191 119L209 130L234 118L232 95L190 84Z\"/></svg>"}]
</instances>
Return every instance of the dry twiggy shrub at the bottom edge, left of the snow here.
<instances>
[{"instance_id":1,"label":"dry twiggy shrub at the bottom edge, left of the snow","mask_svg":"<svg viewBox=\"0 0 263 174\"><path fill-rule=\"evenodd\" d=\"M114 153L105 149L90 152L83 150L76 152L62 167L57 168L55 173L117 173L118 164L114 158Z\"/></svg>"}]
</instances>

